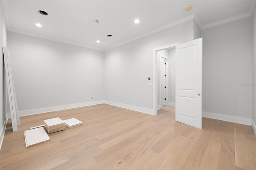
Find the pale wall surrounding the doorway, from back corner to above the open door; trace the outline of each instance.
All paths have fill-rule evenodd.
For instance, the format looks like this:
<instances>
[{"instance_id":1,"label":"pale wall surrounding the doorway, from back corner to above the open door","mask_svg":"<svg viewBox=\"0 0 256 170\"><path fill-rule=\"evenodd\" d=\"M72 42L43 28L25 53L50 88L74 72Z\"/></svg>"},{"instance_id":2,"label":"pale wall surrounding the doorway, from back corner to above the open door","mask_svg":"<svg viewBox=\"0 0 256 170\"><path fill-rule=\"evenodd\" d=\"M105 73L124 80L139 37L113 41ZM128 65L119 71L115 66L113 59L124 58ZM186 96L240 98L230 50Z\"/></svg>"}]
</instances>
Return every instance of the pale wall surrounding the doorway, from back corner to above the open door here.
<instances>
[{"instance_id":1,"label":"pale wall surrounding the doorway, from back corner to above the open door","mask_svg":"<svg viewBox=\"0 0 256 170\"><path fill-rule=\"evenodd\" d=\"M193 20L105 51L104 93L111 104L153 109L153 49L193 39ZM133 100L136 102L133 103ZM119 105L120 106L120 105ZM143 109L140 109L143 111ZM150 112L146 110L145 112Z\"/></svg>"}]
</instances>

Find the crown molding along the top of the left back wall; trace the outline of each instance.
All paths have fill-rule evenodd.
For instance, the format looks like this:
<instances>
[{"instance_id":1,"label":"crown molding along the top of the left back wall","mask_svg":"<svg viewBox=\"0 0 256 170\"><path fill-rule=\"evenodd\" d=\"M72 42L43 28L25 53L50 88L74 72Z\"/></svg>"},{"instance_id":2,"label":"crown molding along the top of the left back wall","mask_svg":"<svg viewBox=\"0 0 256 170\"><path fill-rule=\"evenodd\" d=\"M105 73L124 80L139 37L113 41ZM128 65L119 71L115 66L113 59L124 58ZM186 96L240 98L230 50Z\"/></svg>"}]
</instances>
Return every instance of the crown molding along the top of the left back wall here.
<instances>
[{"instance_id":1,"label":"crown molding along the top of the left back wall","mask_svg":"<svg viewBox=\"0 0 256 170\"><path fill-rule=\"evenodd\" d=\"M28 35L28 36L32 36L32 37L47 39L47 40L50 40L50 41L56 41L56 42L58 42L58 43L65 43L65 44L69 44L69 45L75 45L75 46L79 46L79 47L85 47L85 48L88 48L88 49L94 49L94 50L104 51L104 49L95 48L95 47L92 47L92 46L86 46L86 45L83 45L83 44L80 44L80 43L74 43L74 42L72 42L72 41L63 41L62 39L58 39L58 38L48 38L48 37L38 36L38 35L34 35L34 34L32 34L32 33L27 33L27 32L24 32L24 31L17 30L17 29L10 29L10 28L9 28L9 29L7 29L7 31L14 32L14 33L19 33L19 34L23 34L23 35Z\"/></svg>"}]
</instances>

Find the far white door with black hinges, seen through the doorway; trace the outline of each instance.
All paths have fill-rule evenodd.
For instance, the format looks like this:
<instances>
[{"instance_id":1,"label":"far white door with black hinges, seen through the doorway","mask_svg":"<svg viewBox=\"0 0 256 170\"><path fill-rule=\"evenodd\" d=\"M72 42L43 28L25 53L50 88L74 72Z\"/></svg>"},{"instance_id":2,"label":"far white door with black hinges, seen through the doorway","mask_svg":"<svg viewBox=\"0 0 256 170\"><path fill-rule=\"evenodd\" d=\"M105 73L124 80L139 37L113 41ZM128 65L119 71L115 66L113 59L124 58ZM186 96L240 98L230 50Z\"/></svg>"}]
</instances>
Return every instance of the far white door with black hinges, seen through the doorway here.
<instances>
[{"instance_id":1,"label":"far white door with black hinges, seen through the doorway","mask_svg":"<svg viewBox=\"0 0 256 170\"><path fill-rule=\"evenodd\" d=\"M165 106L165 59L160 57L160 100L161 105Z\"/></svg>"}]
</instances>

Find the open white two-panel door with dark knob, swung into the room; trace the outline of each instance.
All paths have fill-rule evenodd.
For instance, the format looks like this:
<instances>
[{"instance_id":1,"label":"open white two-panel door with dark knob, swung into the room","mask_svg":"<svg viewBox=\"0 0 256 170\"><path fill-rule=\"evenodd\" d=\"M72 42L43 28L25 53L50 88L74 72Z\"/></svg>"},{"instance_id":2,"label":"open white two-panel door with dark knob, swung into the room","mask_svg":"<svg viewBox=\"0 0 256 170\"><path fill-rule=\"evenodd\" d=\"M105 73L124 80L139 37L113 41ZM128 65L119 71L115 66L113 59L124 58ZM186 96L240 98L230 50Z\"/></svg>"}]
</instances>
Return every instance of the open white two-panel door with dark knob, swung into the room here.
<instances>
[{"instance_id":1,"label":"open white two-panel door with dark knob, swung into the room","mask_svg":"<svg viewBox=\"0 0 256 170\"><path fill-rule=\"evenodd\" d=\"M175 116L202 129L202 38L176 46Z\"/></svg>"}]
</instances>

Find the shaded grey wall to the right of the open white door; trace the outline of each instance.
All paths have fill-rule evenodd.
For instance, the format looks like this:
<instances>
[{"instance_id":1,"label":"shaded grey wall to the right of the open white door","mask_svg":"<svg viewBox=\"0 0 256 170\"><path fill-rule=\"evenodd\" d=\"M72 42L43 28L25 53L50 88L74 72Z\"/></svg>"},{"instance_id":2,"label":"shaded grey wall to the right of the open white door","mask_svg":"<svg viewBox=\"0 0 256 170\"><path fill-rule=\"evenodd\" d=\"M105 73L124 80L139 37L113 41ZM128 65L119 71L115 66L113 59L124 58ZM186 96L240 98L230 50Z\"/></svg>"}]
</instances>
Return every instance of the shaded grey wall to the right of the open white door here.
<instances>
[{"instance_id":1,"label":"shaded grey wall to the right of the open white door","mask_svg":"<svg viewBox=\"0 0 256 170\"><path fill-rule=\"evenodd\" d=\"M208 115L218 113L237 121L239 117L250 121L252 18L203 29L202 37L203 111Z\"/></svg>"}]
</instances>

